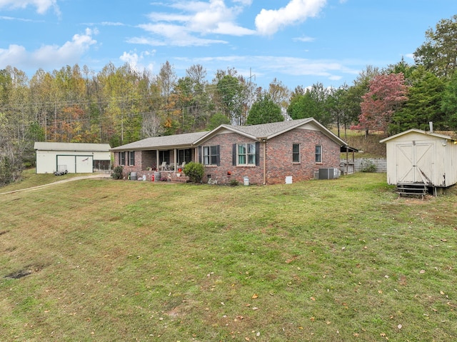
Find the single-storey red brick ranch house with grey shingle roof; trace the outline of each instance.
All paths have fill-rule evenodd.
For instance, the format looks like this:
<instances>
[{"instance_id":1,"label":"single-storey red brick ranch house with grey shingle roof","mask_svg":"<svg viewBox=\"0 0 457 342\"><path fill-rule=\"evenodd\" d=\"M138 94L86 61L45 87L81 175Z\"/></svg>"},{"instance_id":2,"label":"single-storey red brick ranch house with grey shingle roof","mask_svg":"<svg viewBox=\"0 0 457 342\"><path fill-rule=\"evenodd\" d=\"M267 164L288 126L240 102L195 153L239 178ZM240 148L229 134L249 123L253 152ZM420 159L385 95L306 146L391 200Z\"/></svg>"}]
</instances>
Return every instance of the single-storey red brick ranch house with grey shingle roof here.
<instances>
[{"instance_id":1,"label":"single-storey red brick ranch house with grey shingle roof","mask_svg":"<svg viewBox=\"0 0 457 342\"><path fill-rule=\"evenodd\" d=\"M243 182L247 176L250 183L274 184L290 176L293 181L312 179L321 168L339 169L340 151L346 147L345 141L307 118L221 125L212 131L146 138L111 151L114 166L124 166L124 174L136 172L138 178L151 179L154 170L166 164L171 167L161 171L162 176L177 180L179 166L195 161L205 166L204 181L211 177L218 183Z\"/></svg>"}]
</instances>

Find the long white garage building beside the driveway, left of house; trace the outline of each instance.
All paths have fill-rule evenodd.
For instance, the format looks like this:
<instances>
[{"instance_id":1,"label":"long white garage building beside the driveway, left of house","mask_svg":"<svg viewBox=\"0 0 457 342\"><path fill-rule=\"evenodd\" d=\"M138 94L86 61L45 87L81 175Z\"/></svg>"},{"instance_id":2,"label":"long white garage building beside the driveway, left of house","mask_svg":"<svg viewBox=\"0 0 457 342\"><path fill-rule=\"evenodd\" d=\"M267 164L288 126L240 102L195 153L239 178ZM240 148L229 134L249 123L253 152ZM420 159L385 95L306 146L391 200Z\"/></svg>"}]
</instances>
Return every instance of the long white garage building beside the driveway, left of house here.
<instances>
[{"instance_id":1,"label":"long white garage building beside the driveway, left of house","mask_svg":"<svg viewBox=\"0 0 457 342\"><path fill-rule=\"evenodd\" d=\"M109 170L109 144L36 142L36 173L92 173L94 169Z\"/></svg>"}]
</instances>

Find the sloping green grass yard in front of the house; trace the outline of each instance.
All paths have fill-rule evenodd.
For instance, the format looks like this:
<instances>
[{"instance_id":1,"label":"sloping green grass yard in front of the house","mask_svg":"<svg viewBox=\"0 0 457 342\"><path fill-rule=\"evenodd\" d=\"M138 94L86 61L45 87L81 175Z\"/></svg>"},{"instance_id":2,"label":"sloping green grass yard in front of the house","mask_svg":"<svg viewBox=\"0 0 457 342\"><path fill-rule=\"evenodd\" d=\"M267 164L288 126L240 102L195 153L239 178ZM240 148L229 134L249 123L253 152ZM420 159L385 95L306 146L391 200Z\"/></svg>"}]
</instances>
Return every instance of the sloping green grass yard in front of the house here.
<instances>
[{"instance_id":1,"label":"sloping green grass yard in front of the house","mask_svg":"<svg viewBox=\"0 0 457 342\"><path fill-rule=\"evenodd\" d=\"M457 190L385 178L0 195L0 340L457 341Z\"/></svg>"}]
</instances>

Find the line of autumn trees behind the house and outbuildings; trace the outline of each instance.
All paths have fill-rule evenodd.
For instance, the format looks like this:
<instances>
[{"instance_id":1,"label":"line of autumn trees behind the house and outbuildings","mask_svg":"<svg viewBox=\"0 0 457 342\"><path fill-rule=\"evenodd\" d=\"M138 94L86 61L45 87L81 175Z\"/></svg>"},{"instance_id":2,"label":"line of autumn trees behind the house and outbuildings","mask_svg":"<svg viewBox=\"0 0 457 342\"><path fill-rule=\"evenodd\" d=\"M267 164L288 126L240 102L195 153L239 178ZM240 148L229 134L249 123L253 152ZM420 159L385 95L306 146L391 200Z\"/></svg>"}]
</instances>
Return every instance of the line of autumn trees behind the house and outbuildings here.
<instances>
[{"instance_id":1,"label":"line of autumn trees behind the house and outbuildings","mask_svg":"<svg viewBox=\"0 0 457 342\"><path fill-rule=\"evenodd\" d=\"M176 76L166 61L159 73L129 64L42 69L29 79L14 66L0 70L0 185L33 164L35 141L109 143L213 129L219 124L263 124L313 117L338 136L348 129L396 134L457 129L457 16L426 31L414 64L401 59L379 69L366 66L353 84L338 88L296 86L274 79L263 89L236 69L211 81L196 64Z\"/></svg>"}]
</instances>

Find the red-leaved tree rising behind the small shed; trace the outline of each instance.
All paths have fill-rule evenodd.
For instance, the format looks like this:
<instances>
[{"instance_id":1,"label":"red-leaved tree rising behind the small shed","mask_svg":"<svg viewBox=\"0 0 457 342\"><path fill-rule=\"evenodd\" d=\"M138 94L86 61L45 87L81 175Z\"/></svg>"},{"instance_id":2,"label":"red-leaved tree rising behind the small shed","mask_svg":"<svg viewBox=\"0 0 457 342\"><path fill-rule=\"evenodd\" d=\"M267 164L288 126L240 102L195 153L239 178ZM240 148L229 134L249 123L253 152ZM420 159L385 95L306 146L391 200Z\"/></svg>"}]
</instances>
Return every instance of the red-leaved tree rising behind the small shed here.
<instances>
[{"instance_id":1,"label":"red-leaved tree rising behind the small shed","mask_svg":"<svg viewBox=\"0 0 457 342\"><path fill-rule=\"evenodd\" d=\"M403 73L381 74L370 81L368 93L362 96L358 125L352 129L383 131L387 133L392 114L408 100L408 86Z\"/></svg>"}]
</instances>

